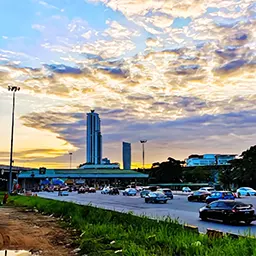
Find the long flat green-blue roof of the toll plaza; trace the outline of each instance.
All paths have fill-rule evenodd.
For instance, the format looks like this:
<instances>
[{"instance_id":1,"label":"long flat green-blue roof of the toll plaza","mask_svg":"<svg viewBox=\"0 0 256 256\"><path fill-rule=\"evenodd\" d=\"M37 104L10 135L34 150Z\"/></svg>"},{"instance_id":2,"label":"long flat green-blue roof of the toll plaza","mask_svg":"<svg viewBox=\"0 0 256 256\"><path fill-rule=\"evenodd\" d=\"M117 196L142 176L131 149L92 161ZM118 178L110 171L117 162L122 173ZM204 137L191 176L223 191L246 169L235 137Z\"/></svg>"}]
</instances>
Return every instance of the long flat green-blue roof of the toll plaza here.
<instances>
[{"instance_id":1,"label":"long flat green-blue roof of the toll plaza","mask_svg":"<svg viewBox=\"0 0 256 256\"><path fill-rule=\"evenodd\" d=\"M122 169L46 169L45 174L40 174L39 169L23 171L18 175L19 179L46 179L46 178L67 178L67 179L111 179L148 178L148 174L133 170Z\"/></svg>"}]
</instances>

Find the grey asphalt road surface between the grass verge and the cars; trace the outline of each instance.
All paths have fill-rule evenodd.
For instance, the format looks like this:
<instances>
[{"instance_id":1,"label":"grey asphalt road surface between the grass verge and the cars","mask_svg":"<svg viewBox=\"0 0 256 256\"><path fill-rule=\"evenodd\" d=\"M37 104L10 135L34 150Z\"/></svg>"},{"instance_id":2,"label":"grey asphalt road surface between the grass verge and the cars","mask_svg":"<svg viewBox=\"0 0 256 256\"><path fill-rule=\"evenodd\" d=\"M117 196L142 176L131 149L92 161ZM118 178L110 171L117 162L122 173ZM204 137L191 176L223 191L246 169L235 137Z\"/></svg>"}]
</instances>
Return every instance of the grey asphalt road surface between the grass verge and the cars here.
<instances>
[{"instance_id":1,"label":"grey asphalt road surface between the grass verge and the cars","mask_svg":"<svg viewBox=\"0 0 256 256\"><path fill-rule=\"evenodd\" d=\"M38 196L82 205L91 204L92 206L120 212L132 211L134 214L146 215L153 218L169 216L172 219L177 219L180 223L197 226L200 232L206 232L207 228L212 228L241 235L250 232L251 235L256 236L256 221L252 222L251 225L245 225L243 223L239 225L226 225L217 221L200 220L198 210L204 206L204 203L188 202L185 195L174 195L174 199L169 200L167 204L146 204L140 196L102 195L99 191L96 194L78 194L77 192L72 192L69 193L69 196L58 196L58 192L40 192ZM239 199L239 201L251 203L256 209L256 197L247 197Z\"/></svg>"}]
</instances>

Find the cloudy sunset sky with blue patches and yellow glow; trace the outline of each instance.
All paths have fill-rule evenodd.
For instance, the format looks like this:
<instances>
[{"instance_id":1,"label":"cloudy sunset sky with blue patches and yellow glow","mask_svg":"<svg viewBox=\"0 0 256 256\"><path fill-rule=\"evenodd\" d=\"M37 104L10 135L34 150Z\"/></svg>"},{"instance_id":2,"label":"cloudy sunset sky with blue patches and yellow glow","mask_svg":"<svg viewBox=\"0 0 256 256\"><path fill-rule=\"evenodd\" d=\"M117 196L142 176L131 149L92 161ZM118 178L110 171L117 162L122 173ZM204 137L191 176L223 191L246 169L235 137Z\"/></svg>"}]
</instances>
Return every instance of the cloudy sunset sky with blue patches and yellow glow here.
<instances>
[{"instance_id":1,"label":"cloudy sunset sky with blue patches and yellow glow","mask_svg":"<svg viewBox=\"0 0 256 256\"><path fill-rule=\"evenodd\" d=\"M132 166L240 154L256 141L254 0L0 0L0 163L85 162L86 113L103 156Z\"/></svg>"}]
</instances>

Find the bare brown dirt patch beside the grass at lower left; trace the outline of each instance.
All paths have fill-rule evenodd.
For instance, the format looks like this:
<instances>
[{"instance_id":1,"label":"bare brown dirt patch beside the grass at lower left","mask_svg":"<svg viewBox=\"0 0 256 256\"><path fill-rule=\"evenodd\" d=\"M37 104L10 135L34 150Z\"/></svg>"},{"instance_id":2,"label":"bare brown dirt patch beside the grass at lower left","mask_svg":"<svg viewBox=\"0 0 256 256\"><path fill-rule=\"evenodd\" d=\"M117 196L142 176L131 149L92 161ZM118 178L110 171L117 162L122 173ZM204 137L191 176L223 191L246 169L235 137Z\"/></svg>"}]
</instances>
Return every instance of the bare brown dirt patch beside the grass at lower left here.
<instances>
[{"instance_id":1,"label":"bare brown dirt patch beside the grass at lower left","mask_svg":"<svg viewBox=\"0 0 256 256\"><path fill-rule=\"evenodd\" d=\"M0 207L0 250L28 250L42 256L72 256L76 231L54 217L24 208Z\"/></svg>"}]
</instances>

